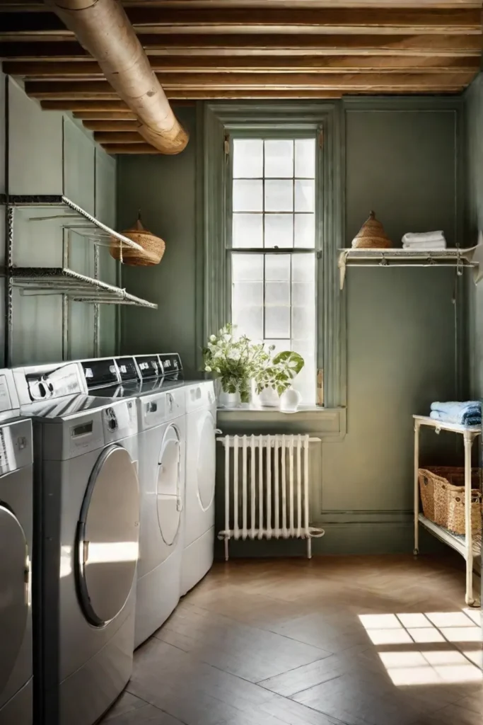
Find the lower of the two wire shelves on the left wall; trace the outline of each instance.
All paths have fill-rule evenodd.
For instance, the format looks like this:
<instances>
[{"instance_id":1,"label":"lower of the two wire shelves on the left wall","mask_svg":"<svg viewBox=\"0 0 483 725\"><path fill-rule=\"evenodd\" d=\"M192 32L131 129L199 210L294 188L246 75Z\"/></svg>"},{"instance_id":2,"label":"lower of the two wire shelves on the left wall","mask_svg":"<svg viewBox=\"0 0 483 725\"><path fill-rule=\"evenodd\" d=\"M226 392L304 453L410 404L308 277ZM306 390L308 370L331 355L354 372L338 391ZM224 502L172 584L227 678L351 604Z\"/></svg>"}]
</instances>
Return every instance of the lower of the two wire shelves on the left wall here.
<instances>
[{"instance_id":1,"label":"lower of the two wire shelves on the left wall","mask_svg":"<svg viewBox=\"0 0 483 725\"><path fill-rule=\"evenodd\" d=\"M62 267L12 267L9 278L24 294L65 294L76 302L136 305L157 310L158 305L136 297L121 287L86 277Z\"/></svg>"}]
</instances>

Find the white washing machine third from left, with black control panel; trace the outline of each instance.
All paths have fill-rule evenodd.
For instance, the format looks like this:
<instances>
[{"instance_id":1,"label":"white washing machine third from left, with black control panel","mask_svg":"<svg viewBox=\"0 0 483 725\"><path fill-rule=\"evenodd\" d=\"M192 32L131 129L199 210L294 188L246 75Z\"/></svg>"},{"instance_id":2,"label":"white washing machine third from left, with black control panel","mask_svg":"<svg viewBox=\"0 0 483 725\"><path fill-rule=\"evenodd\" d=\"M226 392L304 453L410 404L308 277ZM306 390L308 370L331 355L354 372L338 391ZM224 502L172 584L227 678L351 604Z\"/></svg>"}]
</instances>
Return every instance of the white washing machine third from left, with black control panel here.
<instances>
[{"instance_id":1,"label":"white washing machine third from left, with black control panel","mask_svg":"<svg viewBox=\"0 0 483 725\"><path fill-rule=\"evenodd\" d=\"M185 390L180 356L162 357L162 361L158 355L117 357L117 376L112 374L110 381L105 361L81 363L91 392L134 399L138 410L140 547L135 647L164 624L180 600ZM99 372L103 365L104 375ZM104 386L98 385L101 380Z\"/></svg>"}]
</instances>

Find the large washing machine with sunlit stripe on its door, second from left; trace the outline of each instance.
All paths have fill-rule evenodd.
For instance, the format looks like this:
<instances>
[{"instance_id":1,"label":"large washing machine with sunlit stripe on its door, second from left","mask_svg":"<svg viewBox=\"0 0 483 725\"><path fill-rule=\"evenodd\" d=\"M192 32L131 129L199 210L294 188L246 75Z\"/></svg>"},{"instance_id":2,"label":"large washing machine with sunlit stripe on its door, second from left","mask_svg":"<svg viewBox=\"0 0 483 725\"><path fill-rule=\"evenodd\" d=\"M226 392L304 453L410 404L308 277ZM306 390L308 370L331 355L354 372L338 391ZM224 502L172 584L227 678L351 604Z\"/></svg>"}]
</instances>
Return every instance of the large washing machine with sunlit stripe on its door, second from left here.
<instances>
[{"instance_id":1,"label":"large washing machine with sunlit stripe on its door, second from left","mask_svg":"<svg viewBox=\"0 0 483 725\"><path fill-rule=\"evenodd\" d=\"M14 381L33 422L35 725L93 725L133 666L135 403L85 394L78 363Z\"/></svg>"}]
</instances>

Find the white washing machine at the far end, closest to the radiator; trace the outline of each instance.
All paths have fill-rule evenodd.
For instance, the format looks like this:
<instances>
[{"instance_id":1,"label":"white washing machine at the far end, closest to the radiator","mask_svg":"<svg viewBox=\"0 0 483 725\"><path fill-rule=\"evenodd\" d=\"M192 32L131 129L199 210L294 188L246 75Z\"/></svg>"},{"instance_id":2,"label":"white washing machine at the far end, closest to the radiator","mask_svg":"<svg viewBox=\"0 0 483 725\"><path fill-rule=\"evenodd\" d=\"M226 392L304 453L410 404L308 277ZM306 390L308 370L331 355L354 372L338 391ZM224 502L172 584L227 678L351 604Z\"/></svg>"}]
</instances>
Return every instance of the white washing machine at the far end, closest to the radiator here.
<instances>
[{"instance_id":1,"label":"white washing machine at the far end, closest to the radiator","mask_svg":"<svg viewBox=\"0 0 483 725\"><path fill-rule=\"evenodd\" d=\"M209 571L214 555L217 402L212 381L185 385L186 471L181 595Z\"/></svg>"}]
</instances>

